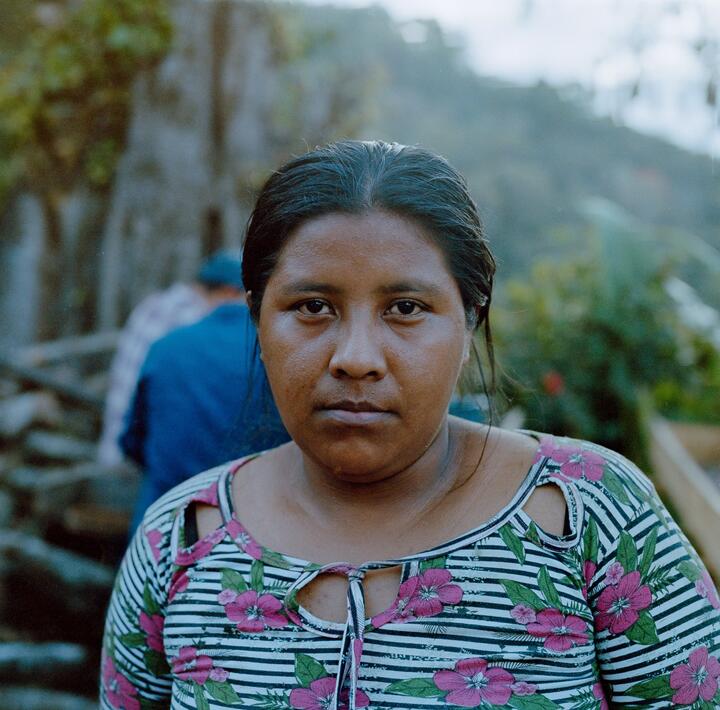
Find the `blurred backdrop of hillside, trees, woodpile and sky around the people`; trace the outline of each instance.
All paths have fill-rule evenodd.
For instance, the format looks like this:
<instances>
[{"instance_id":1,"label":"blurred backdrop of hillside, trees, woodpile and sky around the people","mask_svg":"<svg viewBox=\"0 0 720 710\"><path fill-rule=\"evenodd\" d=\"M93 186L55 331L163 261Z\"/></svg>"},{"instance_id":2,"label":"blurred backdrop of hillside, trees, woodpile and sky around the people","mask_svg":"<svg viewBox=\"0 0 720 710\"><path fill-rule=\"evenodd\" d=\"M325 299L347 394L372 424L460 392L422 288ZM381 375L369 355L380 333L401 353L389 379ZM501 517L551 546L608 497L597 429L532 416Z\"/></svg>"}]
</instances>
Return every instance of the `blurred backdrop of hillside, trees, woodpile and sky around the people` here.
<instances>
[{"instance_id":1,"label":"blurred backdrop of hillside, trees, woodpile and sky around the people","mask_svg":"<svg viewBox=\"0 0 720 710\"><path fill-rule=\"evenodd\" d=\"M3 0L0 707L94 707L138 479L96 460L128 314L337 138L467 177L500 416L631 457L717 579L719 86L714 0Z\"/></svg>"}]
</instances>

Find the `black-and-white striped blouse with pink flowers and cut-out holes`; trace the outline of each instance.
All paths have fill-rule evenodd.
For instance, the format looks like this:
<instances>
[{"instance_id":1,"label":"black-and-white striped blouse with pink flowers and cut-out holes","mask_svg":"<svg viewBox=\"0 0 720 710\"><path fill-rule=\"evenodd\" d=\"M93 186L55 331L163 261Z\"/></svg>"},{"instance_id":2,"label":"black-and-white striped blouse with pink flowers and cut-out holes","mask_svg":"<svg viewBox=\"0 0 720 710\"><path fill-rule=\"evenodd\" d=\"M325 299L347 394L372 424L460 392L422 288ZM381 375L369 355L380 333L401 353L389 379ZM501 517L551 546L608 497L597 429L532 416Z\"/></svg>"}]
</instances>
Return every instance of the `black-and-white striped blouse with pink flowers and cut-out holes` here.
<instances>
[{"instance_id":1,"label":"black-and-white striped blouse with pink flowers and cut-out holes","mask_svg":"<svg viewBox=\"0 0 720 710\"><path fill-rule=\"evenodd\" d=\"M398 560L317 565L264 547L233 512L248 459L174 488L118 574L101 707L720 707L720 599L647 478L618 454L542 437L514 498L449 542ZM565 535L523 507L554 483ZM223 524L185 544L192 502ZM392 606L366 618L363 576L399 566ZM348 618L297 591L348 577Z\"/></svg>"}]
</instances>

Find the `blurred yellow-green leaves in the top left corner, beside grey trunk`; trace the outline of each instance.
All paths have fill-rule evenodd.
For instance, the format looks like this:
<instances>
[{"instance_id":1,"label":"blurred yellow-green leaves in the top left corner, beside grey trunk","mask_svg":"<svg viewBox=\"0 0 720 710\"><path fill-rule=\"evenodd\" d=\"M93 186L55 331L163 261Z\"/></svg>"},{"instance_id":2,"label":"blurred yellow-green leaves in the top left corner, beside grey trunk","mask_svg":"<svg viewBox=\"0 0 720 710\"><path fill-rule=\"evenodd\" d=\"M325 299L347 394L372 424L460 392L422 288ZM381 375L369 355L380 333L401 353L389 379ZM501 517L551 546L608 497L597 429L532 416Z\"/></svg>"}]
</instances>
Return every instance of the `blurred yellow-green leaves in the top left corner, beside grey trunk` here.
<instances>
[{"instance_id":1,"label":"blurred yellow-green leaves in the top left corner, beside grey trunk","mask_svg":"<svg viewBox=\"0 0 720 710\"><path fill-rule=\"evenodd\" d=\"M104 187L123 147L130 86L170 41L165 0L85 0L38 15L0 71L0 200L20 180Z\"/></svg>"}]
</instances>

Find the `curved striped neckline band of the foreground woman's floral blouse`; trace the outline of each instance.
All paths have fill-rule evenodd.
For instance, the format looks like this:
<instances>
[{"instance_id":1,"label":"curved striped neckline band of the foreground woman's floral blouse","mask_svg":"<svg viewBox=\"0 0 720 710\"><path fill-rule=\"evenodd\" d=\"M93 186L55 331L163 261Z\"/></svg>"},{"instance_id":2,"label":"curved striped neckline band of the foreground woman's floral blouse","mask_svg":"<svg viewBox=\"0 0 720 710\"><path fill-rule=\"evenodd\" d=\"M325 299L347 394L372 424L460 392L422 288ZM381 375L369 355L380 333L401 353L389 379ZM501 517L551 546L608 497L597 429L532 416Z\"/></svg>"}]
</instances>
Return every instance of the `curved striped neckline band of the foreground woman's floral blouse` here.
<instances>
[{"instance_id":1,"label":"curved striped neckline band of the foreground woman's floral blouse","mask_svg":"<svg viewBox=\"0 0 720 710\"><path fill-rule=\"evenodd\" d=\"M424 560L441 557L446 554L450 554L451 552L454 552L458 549L462 549L466 545L477 543L479 540L491 534L493 531L499 529L500 527L502 527L502 525L515 517L519 517L521 523L524 521L523 516L518 516L518 514L522 513L523 505L526 503L527 499L532 494L532 491L535 489L540 474L545 468L547 461L549 460L548 456L542 454L543 442L547 435L525 429L515 429L513 431L530 436L537 442L537 447L535 449L535 457L533 459L533 462L530 464L530 467L528 468L525 476L523 477L512 498L494 515L492 515L486 521L480 523L480 525L477 525L464 533L460 533L460 535L456 535L455 537L445 540L438 545L435 545L426 550L414 552L403 557L388 558L384 560L366 560L361 564L352 564L344 560L338 560L329 563L313 562L310 560L306 560L302 557L285 554L283 552L279 552L272 548L266 547L262 544L262 542L257 540L257 538L252 534L252 532L247 527L245 527L243 522L238 518L237 514L235 513L235 508L232 501L232 481L235 477L235 474L245 464L249 463L250 461L254 461L255 459L265 454L265 451L246 456L239 461L234 462L231 466L227 467L221 472L220 480L218 482L218 503L220 514L223 518L223 525L225 526L231 521L234 521L243 529L246 537L249 538L252 543L261 548L264 553L267 553L270 559L281 558L287 563L288 567L300 569L302 571L342 565L348 565L355 569L364 570L380 569L383 567L402 566L406 564L411 564L413 562L420 563Z\"/></svg>"}]
</instances>

